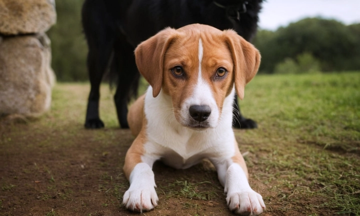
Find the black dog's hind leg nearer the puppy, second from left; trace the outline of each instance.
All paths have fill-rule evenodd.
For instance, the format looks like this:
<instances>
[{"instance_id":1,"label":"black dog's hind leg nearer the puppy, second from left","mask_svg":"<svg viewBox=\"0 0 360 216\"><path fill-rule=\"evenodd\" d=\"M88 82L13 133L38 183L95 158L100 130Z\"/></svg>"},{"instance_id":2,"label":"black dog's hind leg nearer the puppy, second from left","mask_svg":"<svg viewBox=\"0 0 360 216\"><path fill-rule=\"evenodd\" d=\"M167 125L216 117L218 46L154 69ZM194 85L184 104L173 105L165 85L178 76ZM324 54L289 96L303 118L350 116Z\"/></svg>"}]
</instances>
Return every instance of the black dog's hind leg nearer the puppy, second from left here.
<instances>
[{"instance_id":1,"label":"black dog's hind leg nearer the puppy, second from left","mask_svg":"<svg viewBox=\"0 0 360 216\"><path fill-rule=\"evenodd\" d=\"M117 119L121 128L128 128L127 124L127 103L131 96L137 95L139 72L137 71L134 48L122 42L116 46L112 68L118 72L117 88L114 101L117 112Z\"/></svg>"}]
</instances>

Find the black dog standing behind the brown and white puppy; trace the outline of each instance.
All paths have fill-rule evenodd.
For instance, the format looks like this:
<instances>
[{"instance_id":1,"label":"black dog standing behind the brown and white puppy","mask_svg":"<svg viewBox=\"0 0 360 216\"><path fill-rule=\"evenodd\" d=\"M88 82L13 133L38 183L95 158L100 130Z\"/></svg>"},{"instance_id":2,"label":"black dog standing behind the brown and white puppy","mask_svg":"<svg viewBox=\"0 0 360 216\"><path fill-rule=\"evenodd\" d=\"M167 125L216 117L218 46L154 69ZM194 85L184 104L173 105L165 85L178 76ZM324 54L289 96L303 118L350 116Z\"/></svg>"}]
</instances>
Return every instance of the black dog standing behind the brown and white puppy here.
<instances>
[{"instance_id":1,"label":"black dog standing behind the brown and white puppy","mask_svg":"<svg viewBox=\"0 0 360 216\"><path fill-rule=\"evenodd\" d=\"M88 44L87 68L91 83L85 127L100 128L99 85L105 71L116 82L117 118L127 128L127 103L136 96L139 72L133 50L138 43L164 27L191 23L234 29L247 41L256 33L262 0L85 0L82 25ZM254 128L234 101L233 126Z\"/></svg>"}]
</instances>

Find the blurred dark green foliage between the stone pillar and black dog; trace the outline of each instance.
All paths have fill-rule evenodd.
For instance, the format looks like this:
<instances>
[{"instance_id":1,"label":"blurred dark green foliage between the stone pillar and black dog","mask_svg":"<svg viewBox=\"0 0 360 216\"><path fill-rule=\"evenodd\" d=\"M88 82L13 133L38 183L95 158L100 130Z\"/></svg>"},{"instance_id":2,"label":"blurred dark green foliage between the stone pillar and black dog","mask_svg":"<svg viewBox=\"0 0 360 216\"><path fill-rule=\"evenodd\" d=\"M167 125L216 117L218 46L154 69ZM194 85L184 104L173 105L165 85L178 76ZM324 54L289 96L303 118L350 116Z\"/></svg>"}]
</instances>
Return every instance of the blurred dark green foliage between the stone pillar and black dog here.
<instances>
[{"instance_id":1,"label":"blurred dark green foliage between the stone pillar and black dog","mask_svg":"<svg viewBox=\"0 0 360 216\"><path fill-rule=\"evenodd\" d=\"M83 0L56 1L57 22L47 32L52 63L58 81L87 80L87 45L81 27Z\"/></svg>"}]
</instances>

